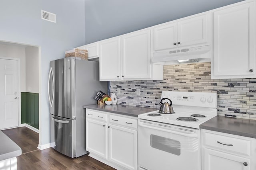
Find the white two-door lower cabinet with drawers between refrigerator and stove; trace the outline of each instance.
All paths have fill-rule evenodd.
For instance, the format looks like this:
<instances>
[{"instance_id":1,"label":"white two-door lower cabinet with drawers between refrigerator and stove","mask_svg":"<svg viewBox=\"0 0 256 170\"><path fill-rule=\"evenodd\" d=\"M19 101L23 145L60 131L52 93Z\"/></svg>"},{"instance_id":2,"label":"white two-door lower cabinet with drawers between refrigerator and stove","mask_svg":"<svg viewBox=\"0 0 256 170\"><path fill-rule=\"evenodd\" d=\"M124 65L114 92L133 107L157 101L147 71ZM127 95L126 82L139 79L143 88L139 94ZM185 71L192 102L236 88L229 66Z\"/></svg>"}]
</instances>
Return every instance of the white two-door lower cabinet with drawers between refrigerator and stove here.
<instances>
[{"instance_id":1,"label":"white two-door lower cabinet with drawers between refrigerator and stove","mask_svg":"<svg viewBox=\"0 0 256 170\"><path fill-rule=\"evenodd\" d=\"M86 150L118 170L137 170L137 129L135 117L86 109Z\"/></svg>"}]
</instances>

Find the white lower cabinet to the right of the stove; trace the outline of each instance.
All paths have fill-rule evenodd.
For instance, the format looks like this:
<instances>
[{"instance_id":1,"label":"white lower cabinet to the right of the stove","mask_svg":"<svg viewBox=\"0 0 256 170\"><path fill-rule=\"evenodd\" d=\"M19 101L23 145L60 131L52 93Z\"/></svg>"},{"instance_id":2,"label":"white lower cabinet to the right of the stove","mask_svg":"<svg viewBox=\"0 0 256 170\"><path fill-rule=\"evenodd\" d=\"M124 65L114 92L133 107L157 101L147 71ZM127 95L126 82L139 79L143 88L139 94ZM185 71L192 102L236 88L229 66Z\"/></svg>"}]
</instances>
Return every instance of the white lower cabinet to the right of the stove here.
<instances>
[{"instance_id":1,"label":"white lower cabinet to the right of the stove","mask_svg":"<svg viewBox=\"0 0 256 170\"><path fill-rule=\"evenodd\" d=\"M202 170L256 170L256 139L202 129Z\"/></svg>"}]
</instances>

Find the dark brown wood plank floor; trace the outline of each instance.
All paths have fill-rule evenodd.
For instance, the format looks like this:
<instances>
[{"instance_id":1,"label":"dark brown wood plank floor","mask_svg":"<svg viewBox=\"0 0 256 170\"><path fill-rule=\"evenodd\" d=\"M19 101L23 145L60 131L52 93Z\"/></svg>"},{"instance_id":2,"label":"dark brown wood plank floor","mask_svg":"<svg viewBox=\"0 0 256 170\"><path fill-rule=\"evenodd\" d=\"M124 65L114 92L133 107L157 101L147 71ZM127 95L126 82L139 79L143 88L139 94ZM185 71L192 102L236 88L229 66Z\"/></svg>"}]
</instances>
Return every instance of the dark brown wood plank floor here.
<instances>
[{"instance_id":1,"label":"dark brown wood plank floor","mask_svg":"<svg viewBox=\"0 0 256 170\"><path fill-rule=\"evenodd\" d=\"M17 157L18 170L115 170L88 155L70 158L52 148L39 150L38 133L27 127L3 130L22 149Z\"/></svg>"}]
</instances>

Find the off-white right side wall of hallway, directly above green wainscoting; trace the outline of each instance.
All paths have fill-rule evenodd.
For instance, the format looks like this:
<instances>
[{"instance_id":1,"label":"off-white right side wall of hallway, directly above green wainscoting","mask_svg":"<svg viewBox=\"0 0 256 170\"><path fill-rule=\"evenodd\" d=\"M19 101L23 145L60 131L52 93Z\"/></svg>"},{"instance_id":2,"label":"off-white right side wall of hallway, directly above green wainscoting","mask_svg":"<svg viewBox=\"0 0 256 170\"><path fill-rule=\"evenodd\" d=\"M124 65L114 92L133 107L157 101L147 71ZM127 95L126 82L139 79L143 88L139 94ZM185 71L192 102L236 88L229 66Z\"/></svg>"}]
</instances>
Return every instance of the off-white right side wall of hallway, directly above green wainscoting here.
<instances>
[{"instance_id":1,"label":"off-white right side wall of hallway, directly above green wainscoting","mask_svg":"<svg viewBox=\"0 0 256 170\"><path fill-rule=\"evenodd\" d=\"M26 92L39 93L38 47L26 47Z\"/></svg>"}]
</instances>

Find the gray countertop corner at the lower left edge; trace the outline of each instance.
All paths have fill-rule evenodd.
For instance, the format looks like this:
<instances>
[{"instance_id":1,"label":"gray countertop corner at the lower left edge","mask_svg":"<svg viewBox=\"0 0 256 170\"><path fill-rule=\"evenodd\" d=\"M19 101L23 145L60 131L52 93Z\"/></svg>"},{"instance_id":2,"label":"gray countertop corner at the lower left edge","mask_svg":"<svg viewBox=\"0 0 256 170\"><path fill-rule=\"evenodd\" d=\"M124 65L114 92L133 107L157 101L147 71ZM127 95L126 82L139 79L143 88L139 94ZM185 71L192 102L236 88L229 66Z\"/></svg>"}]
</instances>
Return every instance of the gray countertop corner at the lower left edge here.
<instances>
[{"instance_id":1,"label":"gray countertop corner at the lower left edge","mask_svg":"<svg viewBox=\"0 0 256 170\"><path fill-rule=\"evenodd\" d=\"M0 131L0 161L21 155L21 148Z\"/></svg>"}]
</instances>

